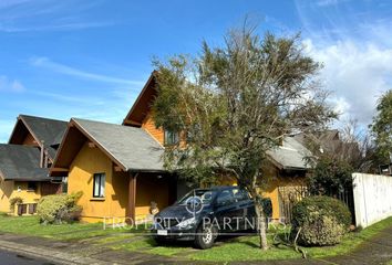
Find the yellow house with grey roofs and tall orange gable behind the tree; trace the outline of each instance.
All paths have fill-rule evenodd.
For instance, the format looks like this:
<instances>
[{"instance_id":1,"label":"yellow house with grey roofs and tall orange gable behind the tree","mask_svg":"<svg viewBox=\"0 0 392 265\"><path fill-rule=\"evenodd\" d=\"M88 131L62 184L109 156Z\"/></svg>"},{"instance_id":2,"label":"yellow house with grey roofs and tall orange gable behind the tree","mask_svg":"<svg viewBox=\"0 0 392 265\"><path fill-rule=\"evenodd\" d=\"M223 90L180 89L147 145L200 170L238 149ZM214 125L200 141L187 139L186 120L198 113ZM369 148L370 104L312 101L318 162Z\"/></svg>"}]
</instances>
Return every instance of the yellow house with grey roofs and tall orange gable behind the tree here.
<instances>
[{"instance_id":1,"label":"yellow house with grey roofs and tall orange gable behind the tree","mask_svg":"<svg viewBox=\"0 0 392 265\"><path fill-rule=\"evenodd\" d=\"M51 176L68 174L69 192L83 191L82 220L143 219L155 204L163 209L190 189L164 169L164 147L179 136L156 128L151 113L156 93L153 73L122 125L71 118ZM264 190L271 198L274 218L282 216L279 187L302 186L309 168L303 157L309 153L292 137L270 151L272 181ZM223 184L235 180L225 179Z\"/></svg>"}]
</instances>

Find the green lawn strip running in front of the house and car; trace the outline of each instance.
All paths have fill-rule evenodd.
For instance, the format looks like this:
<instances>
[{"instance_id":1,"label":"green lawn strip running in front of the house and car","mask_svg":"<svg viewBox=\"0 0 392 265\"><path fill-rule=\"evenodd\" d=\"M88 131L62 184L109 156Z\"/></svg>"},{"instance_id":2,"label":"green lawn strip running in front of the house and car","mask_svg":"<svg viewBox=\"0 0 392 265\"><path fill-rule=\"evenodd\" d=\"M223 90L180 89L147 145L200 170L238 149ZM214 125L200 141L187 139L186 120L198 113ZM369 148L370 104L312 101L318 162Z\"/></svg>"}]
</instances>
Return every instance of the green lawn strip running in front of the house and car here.
<instances>
[{"instance_id":1,"label":"green lawn strip running in front of the house and car","mask_svg":"<svg viewBox=\"0 0 392 265\"><path fill-rule=\"evenodd\" d=\"M392 225L392 218L383 220L360 232L348 234L343 242L328 247L303 247L309 257L326 257L345 254L353 251L363 241L374 236L381 230ZM94 237L93 244L106 245L114 250L125 250L164 256L176 255L182 258L205 262L266 261L300 258L301 255L291 247L274 246L274 233L270 231L270 250L258 248L257 236L239 236L219 241L216 246L205 251L194 250L192 244L168 244L157 246L152 237L146 236L143 227L135 230L107 229L103 224L62 224L41 225L37 216L13 218L0 214L0 232L42 236L51 240L78 241ZM142 232L142 233L140 233ZM389 264L392 265L392 264Z\"/></svg>"}]
</instances>

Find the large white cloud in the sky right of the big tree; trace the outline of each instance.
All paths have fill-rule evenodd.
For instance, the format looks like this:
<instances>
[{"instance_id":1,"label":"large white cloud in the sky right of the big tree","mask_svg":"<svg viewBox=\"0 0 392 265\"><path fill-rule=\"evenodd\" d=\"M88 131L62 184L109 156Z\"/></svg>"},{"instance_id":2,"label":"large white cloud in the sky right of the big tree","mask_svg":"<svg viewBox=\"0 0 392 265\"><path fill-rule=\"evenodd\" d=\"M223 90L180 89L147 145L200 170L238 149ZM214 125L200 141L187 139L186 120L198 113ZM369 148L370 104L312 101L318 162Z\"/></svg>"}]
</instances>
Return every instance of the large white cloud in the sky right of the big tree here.
<instances>
[{"instance_id":1,"label":"large white cloud in the sky right of the big tree","mask_svg":"<svg viewBox=\"0 0 392 265\"><path fill-rule=\"evenodd\" d=\"M308 39L305 44L306 51L323 63L320 77L333 92L331 100L336 110L343 113L341 118L370 124L378 97L392 87L392 49L352 40L317 46Z\"/></svg>"}]
</instances>

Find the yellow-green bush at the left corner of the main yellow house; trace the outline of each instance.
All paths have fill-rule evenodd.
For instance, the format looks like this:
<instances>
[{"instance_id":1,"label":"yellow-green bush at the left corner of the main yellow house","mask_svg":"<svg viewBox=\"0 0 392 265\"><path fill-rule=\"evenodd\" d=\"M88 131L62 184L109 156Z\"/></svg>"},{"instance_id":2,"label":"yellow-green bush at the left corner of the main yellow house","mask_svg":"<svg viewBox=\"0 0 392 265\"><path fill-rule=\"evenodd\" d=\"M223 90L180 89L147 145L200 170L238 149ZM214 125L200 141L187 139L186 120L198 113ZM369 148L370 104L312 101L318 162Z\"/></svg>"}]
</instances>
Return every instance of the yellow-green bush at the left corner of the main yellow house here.
<instances>
[{"instance_id":1,"label":"yellow-green bush at the left corner of the main yellow house","mask_svg":"<svg viewBox=\"0 0 392 265\"><path fill-rule=\"evenodd\" d=\"M82 192L43 197L37 206L40 222L61 224L78 221L82 213L82 206L76 203L81 197Z\"/></svg>"}]
</instances>

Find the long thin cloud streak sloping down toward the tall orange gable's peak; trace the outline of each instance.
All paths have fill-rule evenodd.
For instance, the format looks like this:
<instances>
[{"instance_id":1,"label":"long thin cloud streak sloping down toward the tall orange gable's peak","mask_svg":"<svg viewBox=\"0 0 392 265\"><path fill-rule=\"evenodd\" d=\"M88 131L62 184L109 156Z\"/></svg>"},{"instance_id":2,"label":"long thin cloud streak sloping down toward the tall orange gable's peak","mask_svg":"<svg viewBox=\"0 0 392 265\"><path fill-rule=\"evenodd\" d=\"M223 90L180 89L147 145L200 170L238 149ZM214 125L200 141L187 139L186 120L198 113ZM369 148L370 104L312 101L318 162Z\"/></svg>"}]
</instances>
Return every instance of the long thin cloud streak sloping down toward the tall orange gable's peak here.
<instances>
[{"instance_id":1,"label":"long thin cloud streak sloping down toward the tall orange gable's peak","mask_svg":"<svg viewBox=\"0 0 392 265\"><path fill-rule=\"evenodd\" d=\"M71 75L75 77L81 77L84 80L90 81L99 81L99 82L106 82L106 83L114 83L114 84L123 84L123 85L143 85L144 82L141 81L132 81L132 80L124 80L102 74L90 73L83 70L79 70L69 65L60 64L56 62L51 61L48 57L31 57L30 63L37 67L44 67L52 72L56 72L60 74Z\"/></svg>"}]
</instances>

